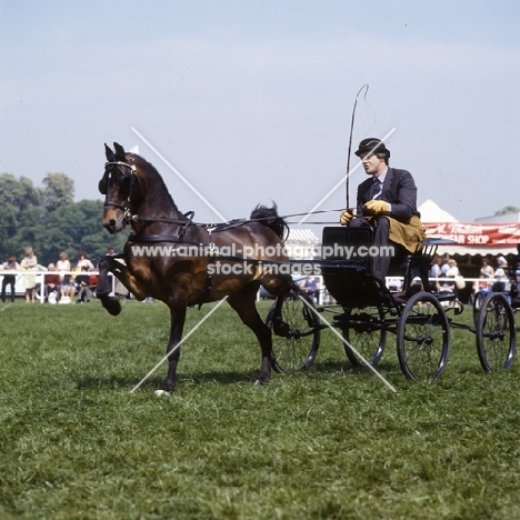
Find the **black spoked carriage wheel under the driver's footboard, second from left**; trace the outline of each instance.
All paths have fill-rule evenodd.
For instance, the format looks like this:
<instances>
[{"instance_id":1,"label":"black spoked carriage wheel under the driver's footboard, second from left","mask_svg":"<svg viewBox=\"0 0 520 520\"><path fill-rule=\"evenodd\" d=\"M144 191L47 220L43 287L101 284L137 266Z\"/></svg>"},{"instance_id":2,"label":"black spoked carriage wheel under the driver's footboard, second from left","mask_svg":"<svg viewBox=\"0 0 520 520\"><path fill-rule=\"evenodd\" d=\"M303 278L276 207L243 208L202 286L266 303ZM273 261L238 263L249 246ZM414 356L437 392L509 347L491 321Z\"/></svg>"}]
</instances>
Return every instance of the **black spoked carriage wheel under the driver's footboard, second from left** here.
<instances>
[{"instance_id":1,"label":"black spoked carriage wheel under the driver's footboard, second from left","mask_svg":"<svg viewBox=\"0 0 520 520\"><path fill-rule=\"evenodd\" d=\"M370 364L377 364L387 344L384 324L384 309L371 307L364 309L347 309L342 328L344 353L354 367L367 363L358 356L361 354ZM353 347L358 353L356 353Z\"/></svg>"}]
</instances>

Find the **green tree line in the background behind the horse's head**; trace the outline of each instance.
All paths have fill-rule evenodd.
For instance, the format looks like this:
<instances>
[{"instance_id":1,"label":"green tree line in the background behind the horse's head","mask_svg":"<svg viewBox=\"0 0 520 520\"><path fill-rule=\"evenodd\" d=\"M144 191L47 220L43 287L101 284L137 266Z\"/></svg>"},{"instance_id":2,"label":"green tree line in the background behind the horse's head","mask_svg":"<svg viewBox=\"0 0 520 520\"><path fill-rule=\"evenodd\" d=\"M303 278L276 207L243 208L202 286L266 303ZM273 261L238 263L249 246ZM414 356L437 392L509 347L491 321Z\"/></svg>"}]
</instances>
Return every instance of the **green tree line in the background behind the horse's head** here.
<instances>
[{"instance_id":1,"label":"green tree line in the background behind the horse's head","mask_svg":"<svg viewBox=\"0 0 520 520\"><path fill-rule=\"evenodd\" d=\"M74 181L64 173L48 173L42 187L31 179L0 174L0 263L31 246L38 263L57 262L62 251L72 266L84 251L96 264L109 246L122 251L127 236L111 236L101 226L103 202L74 202Z\"/></svg>"}]
</instances>

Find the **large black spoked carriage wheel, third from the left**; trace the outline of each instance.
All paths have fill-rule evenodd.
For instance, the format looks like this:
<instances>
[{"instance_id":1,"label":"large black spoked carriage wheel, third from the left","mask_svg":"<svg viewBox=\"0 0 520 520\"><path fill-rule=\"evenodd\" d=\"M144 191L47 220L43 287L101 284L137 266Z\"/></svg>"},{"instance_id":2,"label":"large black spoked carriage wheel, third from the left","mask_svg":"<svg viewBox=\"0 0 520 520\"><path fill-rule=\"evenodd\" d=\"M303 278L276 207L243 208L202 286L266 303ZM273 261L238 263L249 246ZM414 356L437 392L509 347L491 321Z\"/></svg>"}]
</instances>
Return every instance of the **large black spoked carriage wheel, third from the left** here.
<instances>
[{"instance_id":1,"label":"large black spoked carriage wheel, third from the left","mask_svg":"<svg viewBox=\"0 0 520 520\"><path fill-rule=\"evenodd\" d=\"M397 329L399 363L408 379L437 379L446 368L450 324L439 300L418 292L407 302Z\"/></svg>"}]
</instances>

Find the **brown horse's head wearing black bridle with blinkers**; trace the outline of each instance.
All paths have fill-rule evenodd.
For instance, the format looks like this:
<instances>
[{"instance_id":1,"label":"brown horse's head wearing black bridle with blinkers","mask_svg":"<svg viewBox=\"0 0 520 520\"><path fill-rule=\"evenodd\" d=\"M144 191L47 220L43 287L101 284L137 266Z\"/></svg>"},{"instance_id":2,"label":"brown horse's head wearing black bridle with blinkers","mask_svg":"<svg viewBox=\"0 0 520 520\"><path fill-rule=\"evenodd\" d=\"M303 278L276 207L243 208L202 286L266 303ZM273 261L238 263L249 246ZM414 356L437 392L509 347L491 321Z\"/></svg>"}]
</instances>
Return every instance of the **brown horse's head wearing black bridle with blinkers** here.
<instances>
[{"instance_id":1,"label":"brown horse's head wearing black bridle with blinkers","mask_svg":"<svg viewBox=\"0 0 520 520\"><path fill-rule=\"evenodd\" d=\"M122 231L128 223L132 207L141 198L137 158L127 153L117 142L114 151L104 144L107 162L99 181L99 191L104 196L103 226L111 233Z\"/></svg>"}]
</instances>

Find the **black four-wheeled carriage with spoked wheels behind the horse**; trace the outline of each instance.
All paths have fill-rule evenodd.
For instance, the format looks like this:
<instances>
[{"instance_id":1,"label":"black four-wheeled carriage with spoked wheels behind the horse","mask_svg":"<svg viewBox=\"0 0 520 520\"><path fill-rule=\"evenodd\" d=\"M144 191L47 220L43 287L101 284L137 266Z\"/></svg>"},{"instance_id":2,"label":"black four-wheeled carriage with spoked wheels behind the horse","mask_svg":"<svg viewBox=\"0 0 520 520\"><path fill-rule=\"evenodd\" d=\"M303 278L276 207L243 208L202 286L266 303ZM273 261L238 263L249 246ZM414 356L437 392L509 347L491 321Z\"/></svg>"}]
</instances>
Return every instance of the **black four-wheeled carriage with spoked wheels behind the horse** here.
<instances>
[{"instance_id":1,"label":"black four-wheeled carriage with spoked wheels behind the horse","mask_svg":"<svg viewBox=\"0 0 520 520\"><path fill-rule=\"evenodd\" d=\"M337 303L317 308L296 284L278 297L267 319L273 331L274 369L309 368L318 353L321 331L329 327L342 337L353 366L374 366L389 336L394 334L399 363L409 379L429 380L442 374L450 352L450 329L476 334L479 360L486 372L508 369L514 357L517 329L507 298L499 292L490 293L470 327L449 316L459 316L463 310L457 297L444 294L430 283L431 259L438 246L446 242L428 239L414 254L401 259L403 284L397 292L371 274L369 254L353 256L356 251L370 252L370 228L324 228L324 253L316 262ZM344 256L347 250L350 258Z\"/></svg>"}]
</instances>

